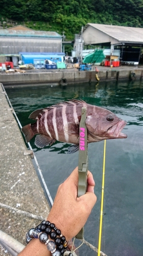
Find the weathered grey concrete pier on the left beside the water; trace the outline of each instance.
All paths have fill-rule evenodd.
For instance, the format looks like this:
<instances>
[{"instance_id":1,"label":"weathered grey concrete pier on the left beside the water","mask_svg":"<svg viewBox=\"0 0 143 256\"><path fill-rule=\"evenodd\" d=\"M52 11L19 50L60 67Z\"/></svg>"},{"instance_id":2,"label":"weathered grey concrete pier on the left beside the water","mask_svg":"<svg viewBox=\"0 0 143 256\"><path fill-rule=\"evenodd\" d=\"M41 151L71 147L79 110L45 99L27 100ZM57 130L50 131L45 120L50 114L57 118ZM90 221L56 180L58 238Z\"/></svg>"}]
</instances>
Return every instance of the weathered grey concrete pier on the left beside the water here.
<instances>
[{"instance_id":1,"label":"weathered grey concrete pier on the left beside the water","mask_svg":"<svg viewBox=\"0 0 143 256\"><path fill-rule=\"evenodd\" d=\"M30 155L0 84L0 229L22 244L25 234L45 219L49 205ZM2 247L0 255L7 254Z\"/></svg>"}]
</instances>

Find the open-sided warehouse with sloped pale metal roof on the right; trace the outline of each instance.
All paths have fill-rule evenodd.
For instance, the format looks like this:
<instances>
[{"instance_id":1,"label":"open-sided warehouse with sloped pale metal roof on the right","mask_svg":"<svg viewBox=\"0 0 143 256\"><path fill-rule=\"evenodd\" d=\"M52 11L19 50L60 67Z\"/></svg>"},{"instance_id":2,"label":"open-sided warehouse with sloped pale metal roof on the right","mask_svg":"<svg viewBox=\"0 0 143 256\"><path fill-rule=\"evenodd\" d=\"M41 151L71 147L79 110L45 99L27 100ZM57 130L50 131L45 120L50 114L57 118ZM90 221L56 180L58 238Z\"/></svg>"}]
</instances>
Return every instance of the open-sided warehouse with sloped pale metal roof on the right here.
<instances>
[{"instance_id":1,"label":"open-sided warehouse with sloped pale metal roof on the right","mask_svg":"<svg viewBox=\"0 0 143 256\"><path fill-rule=\"evenodd\" d=\"M143 45L143 28L88 23L82 31L84 45L120 49L121 62L138 63Z\"/></svg>"}]
</instances>

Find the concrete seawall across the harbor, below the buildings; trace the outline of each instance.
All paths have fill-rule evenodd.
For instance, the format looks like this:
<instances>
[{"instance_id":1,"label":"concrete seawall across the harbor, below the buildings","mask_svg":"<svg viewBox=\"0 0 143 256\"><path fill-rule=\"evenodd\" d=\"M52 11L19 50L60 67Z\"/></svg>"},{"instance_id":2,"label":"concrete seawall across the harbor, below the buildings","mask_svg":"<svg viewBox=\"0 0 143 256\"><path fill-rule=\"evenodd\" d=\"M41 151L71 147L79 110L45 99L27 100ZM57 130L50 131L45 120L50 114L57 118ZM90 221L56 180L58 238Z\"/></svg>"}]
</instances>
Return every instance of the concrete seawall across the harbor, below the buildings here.
<instances>
[{"instance_id":1,"label":"concrete seawall across the harbor, below the buildings","mask_svg":"<svg viewBox=\"0 0 143 256\"><path fill-rule=\"evenodd\" d=\"M117 69L98 67L97 72L100 80L118 79L142 79L143 69L137 67L119 67ZM0 82L4 86L16 84L26 86L28 84L60 84L60 80L66 78L68 84L97 81L95 71L78 71L77 69L66 70L26 70L26 73L1 73Z\"/></svg>"}]
</instances>

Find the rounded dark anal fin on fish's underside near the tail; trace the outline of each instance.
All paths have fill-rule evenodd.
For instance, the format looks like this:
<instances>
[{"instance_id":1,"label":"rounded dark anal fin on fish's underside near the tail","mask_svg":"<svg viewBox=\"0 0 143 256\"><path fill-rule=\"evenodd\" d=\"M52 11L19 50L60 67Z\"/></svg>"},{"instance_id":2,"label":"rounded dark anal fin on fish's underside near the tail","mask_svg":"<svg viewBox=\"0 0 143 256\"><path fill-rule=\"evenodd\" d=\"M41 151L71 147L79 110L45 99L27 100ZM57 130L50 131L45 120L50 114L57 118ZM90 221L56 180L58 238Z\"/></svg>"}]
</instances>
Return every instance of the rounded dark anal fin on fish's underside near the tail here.
<instances>
[{"instance_id":1,"label":"rounded dark anal fin on fish's underside near the tail","mask_svg":"<svg viewBox=\"0 0 143 256\"><path fill-rule=\"evenodd\" d=\"M47 146L47 145L51 145L52 143L55 142L55 139L52 139L50 137L46 137L44 135L37 135L36 138L35 138L35 145L37 147L44 147L44 146Z\"/></svg>"}]
</instances>

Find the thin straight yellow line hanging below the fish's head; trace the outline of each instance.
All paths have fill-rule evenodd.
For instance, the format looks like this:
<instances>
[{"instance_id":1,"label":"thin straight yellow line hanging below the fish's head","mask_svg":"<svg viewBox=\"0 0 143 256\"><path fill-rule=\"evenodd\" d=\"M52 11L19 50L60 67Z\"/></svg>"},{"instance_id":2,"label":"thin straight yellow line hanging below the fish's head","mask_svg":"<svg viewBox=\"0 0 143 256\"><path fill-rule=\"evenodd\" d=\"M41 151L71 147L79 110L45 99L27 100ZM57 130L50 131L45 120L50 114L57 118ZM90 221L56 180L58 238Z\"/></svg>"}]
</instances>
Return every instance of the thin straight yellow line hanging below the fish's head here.
<instances>
[{"instance_id":1,"label":"thin straight yellow line hanging below the fish's head","mask_svg":"<svg viewBox=\"0 0 143 256\"><path fill-rule=\"evenodd\" d=\"M103 153L103 173L102 173L102 193L101 193L98 256L100 256L101 236L102 236L102 219L103 219L103 204L104 204L104 182L105 182L105 154L106 154L106 140L104 140L104 153Z\"/></svg>"}]
</instances>

